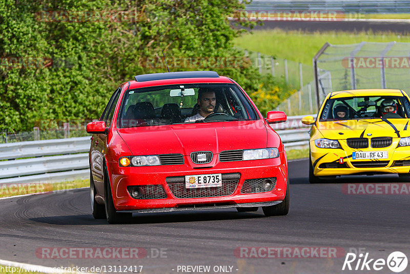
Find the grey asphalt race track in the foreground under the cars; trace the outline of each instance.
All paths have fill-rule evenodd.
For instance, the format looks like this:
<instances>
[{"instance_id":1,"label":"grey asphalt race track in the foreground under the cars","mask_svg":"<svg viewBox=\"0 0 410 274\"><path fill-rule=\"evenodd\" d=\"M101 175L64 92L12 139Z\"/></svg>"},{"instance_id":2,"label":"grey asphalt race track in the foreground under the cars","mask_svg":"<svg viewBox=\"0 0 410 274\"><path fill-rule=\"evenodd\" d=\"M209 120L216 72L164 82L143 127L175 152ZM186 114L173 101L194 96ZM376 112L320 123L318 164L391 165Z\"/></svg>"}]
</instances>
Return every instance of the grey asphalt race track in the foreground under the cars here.
<instances>
[{"instance_id":1,"label":"grey asphalt race track in the foreground under the cars","mask_svg":"<svg viewBox=\"0 0 410 274\"><path fill-rule=\"evenodd\" d=\"M142 273L201 273L192 268L182 271L182 266L204 265L210 266L209 273L317 274L393 273L387 266L380 271L342 271L345 252L360 248L372 259L386 260L393 251L410 258L410 195L342 192L346 182L397 184L397 176L343 177L309 184L307 160L290 162L289 174L291 209L285 217L265 218L261 209L247 213L220 209L134 214L131 223L108 225L91 216L89 189L0 200L0 259L50 267L142 265ZM56 258L62 254L58 253L53 259L42 258L45 248L61 247L139 247L147 250L147 257L70 259ZM292 258L240 258L241 253L235 252L240 247L296 247L299 251L332 247L338 252L337 258L299 258L297 253L290 253ZM37 255L36 250L40 250ZM312 254L308 257L315 257ZM219 266L228 267L214 271ZM410 266L401 273L410 273Z\"/></svg>"}]
</instances>

